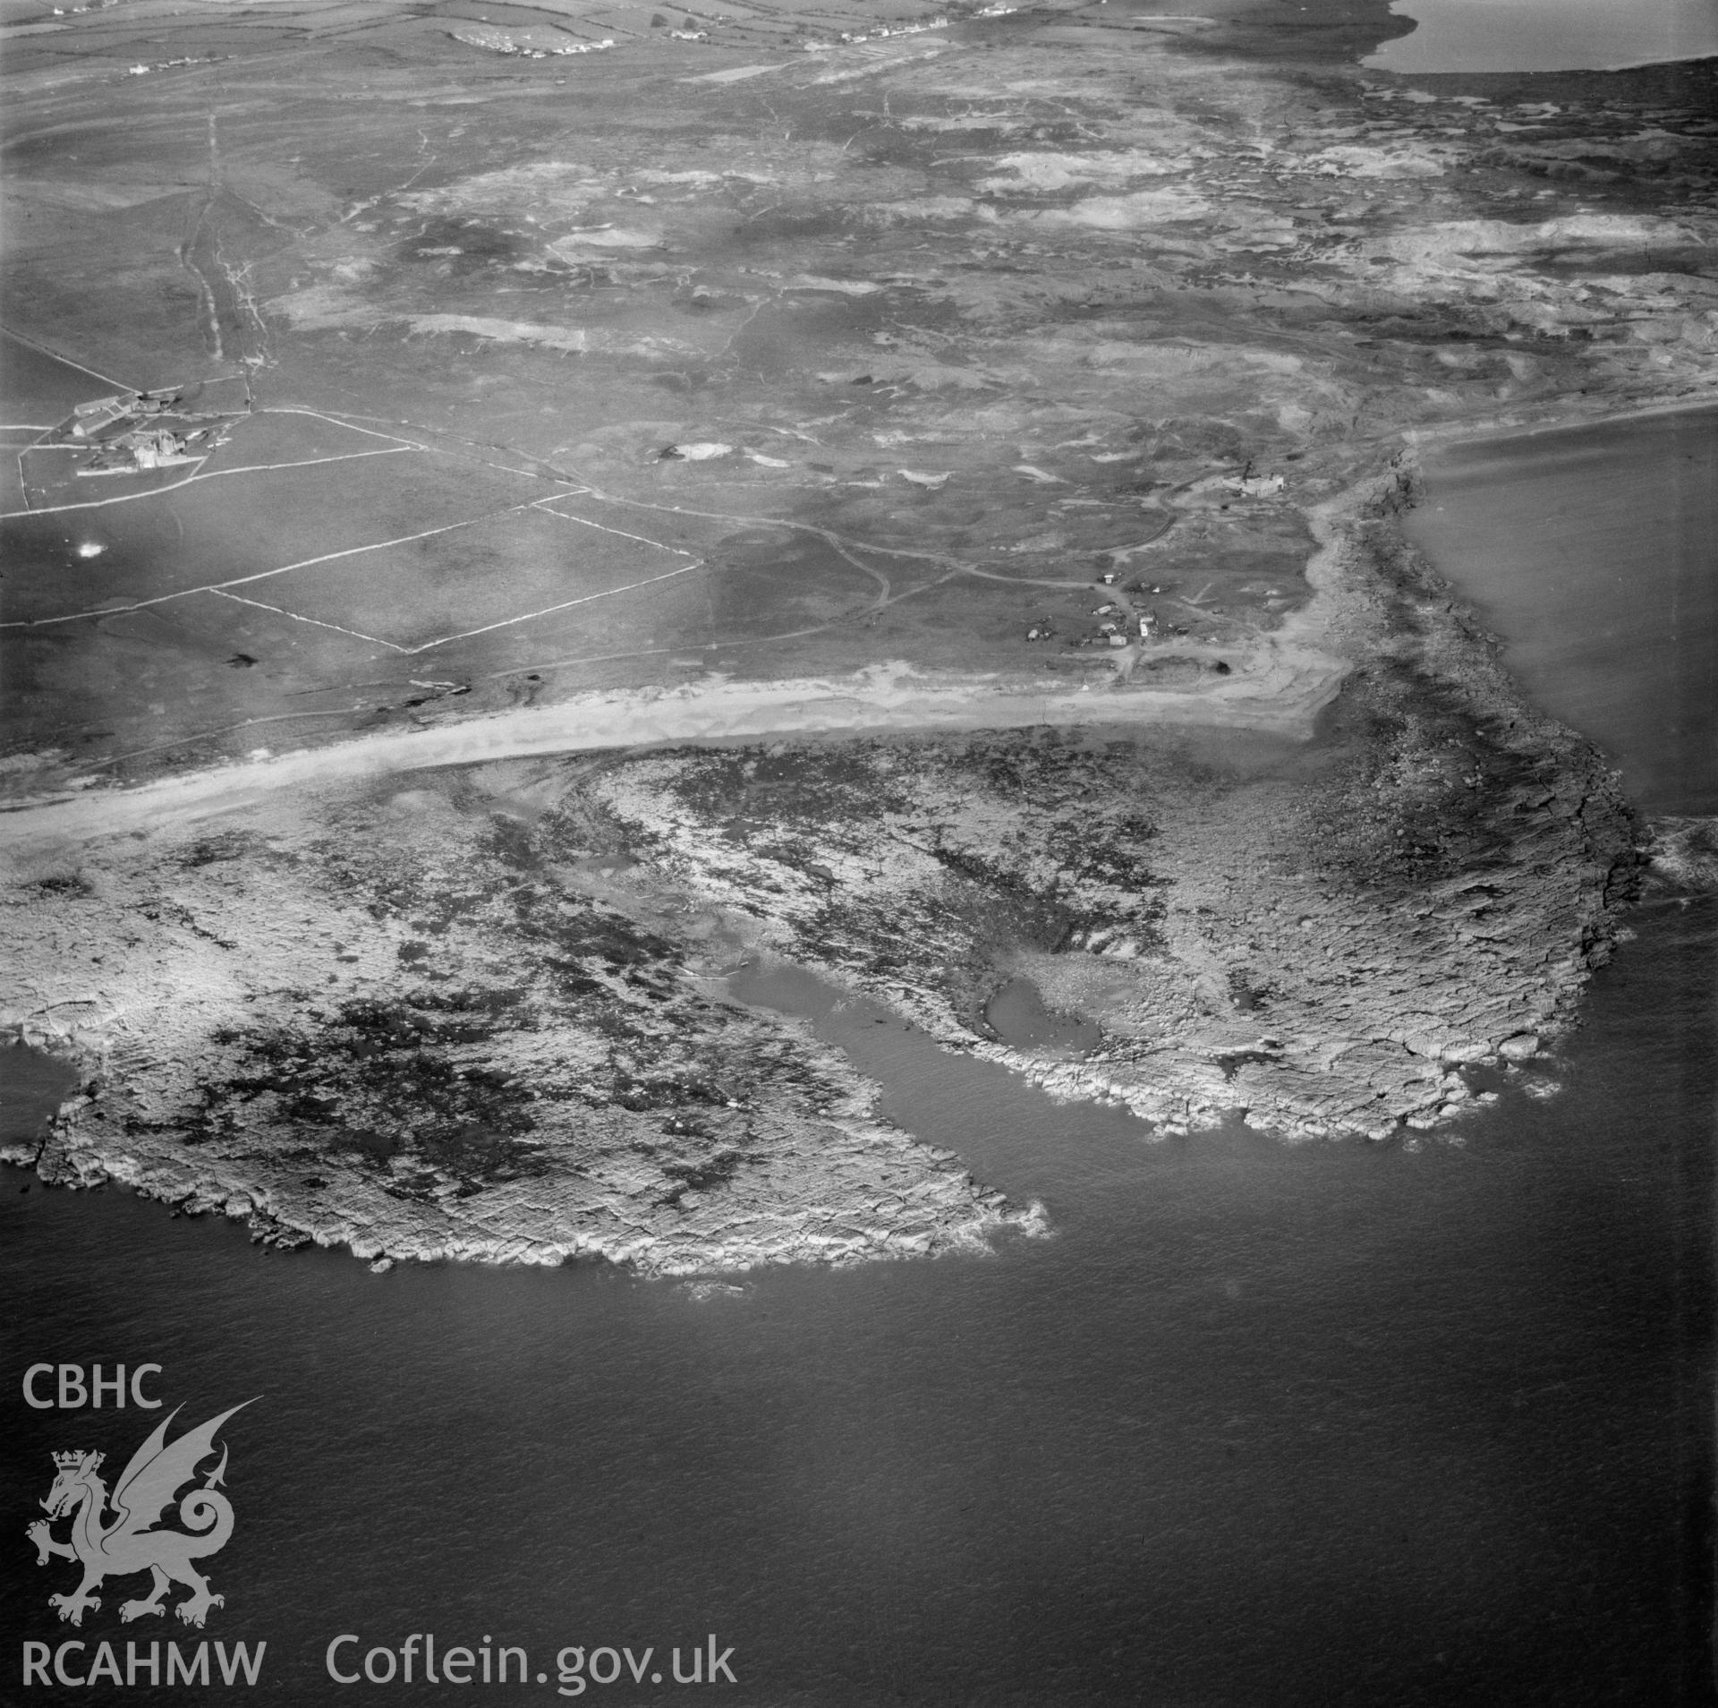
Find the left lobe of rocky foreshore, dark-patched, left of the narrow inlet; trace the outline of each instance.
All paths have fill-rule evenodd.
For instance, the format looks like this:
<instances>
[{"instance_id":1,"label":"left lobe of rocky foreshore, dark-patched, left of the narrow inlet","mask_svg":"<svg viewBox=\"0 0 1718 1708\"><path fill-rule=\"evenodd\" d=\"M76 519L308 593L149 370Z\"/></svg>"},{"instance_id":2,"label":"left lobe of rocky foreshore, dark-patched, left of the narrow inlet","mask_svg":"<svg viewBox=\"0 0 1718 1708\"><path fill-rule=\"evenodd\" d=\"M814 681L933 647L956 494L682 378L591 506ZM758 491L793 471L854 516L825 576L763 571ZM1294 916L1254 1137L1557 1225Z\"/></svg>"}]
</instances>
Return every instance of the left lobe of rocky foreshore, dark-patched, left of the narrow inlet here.
<instances>
[{"instance_id":1,"label":"left lobe of rocky foreshore, dark-patched, left of the narrow inlet","mask_svg":"<svg viewBox=\"0 0 1718 1708\"><path fill-rule=\"evenodd\" d=\"M362 1258L679 1273L1041 1223L804 1026L720 1000L692 921L603 899L627 856L577 796L539 818L521 784L295 796L22 875L7 1026L86 1086L7 1158Z\"/></svg>"}]
</instances>

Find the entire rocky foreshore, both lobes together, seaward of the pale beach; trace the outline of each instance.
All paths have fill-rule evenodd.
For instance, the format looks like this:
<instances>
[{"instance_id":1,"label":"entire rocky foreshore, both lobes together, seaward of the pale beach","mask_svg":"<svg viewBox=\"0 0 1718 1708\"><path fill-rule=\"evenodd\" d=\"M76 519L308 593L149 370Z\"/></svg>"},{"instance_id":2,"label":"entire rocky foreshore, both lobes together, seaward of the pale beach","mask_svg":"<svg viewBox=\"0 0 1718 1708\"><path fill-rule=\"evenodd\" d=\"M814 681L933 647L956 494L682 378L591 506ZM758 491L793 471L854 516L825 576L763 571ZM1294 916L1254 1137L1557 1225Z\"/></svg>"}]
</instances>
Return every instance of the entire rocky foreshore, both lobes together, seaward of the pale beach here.
<instances>
[{"instance_id":1,"label":"entire rocky foreshore, both lobes together, seaward of the pale beach","mask_svg":"<svg viewBox=\"0 0 1718 1708\"><path fill-rule=\"evenodd\" d=\"M38 851L3 1024L86 1088L7 1160L361 1258L691 1273L1045 1229L728 1000L756 954L1158 1132L1459 1134L1512 1076L1550 1091L1642 830L1407 546L1412 493L1404 455L1314 515L1288 624L1347 677L1311 741L1118 718L521 758ZM1000 1038L1022 978L1098 1046Z\"/></svg>"}]
</instances>

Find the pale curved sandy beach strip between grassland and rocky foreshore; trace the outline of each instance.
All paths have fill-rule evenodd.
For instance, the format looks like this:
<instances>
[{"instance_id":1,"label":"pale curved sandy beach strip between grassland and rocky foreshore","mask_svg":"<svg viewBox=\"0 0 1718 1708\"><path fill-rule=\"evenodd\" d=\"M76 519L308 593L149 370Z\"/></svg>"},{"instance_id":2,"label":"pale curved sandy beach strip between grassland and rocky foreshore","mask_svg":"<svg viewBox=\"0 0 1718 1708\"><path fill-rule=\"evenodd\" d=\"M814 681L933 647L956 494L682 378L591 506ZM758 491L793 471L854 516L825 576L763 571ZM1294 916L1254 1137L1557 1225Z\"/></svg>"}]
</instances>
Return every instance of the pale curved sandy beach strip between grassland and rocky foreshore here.
<instances>
[{"instance_id":1,"label":"pale curved sandy beach strip between grassland and rocky foreshore","mask_svg":"<svg viewBox=\"0 0 1718 1708\"><path fill-rule=\"evenodd\" d=\"M991 675L917 675L905 665L874 665L852 677L716 679L667 691L579 694L553 706L361 735L136 789L29 802L0 816L0 849L31 857L91 839L172 828L230 813L292 785L601 747L1034 723L1204 723L1304 739L1345 674L1347 665L1328 653L1276 644L1234 675L1161 689L1069 689L1063 682L1005 686Z\"/></svg>"}]
</instances>

